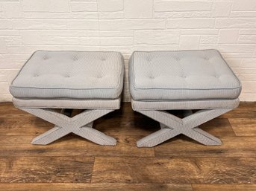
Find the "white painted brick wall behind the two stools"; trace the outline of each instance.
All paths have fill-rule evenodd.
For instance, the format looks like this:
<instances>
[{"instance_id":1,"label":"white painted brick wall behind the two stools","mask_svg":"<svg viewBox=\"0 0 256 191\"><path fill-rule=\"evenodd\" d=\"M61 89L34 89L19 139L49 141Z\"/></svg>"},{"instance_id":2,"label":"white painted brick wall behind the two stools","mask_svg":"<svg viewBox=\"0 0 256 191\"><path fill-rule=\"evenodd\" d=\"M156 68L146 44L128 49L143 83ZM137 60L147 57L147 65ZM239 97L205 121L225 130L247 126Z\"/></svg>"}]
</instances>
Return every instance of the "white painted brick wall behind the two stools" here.
<instances>
[{"instance_id":1,"label":"white painted brick wall behind the two stools","mask_svg":"<svg viewBox=\"0 0 256 191\"><path fill-rule=\"evenodd\" d=\"M255 0L0 0L0 101L36 50L132 51L216 48L256 101Z\"/></svg>"}]
</instances>

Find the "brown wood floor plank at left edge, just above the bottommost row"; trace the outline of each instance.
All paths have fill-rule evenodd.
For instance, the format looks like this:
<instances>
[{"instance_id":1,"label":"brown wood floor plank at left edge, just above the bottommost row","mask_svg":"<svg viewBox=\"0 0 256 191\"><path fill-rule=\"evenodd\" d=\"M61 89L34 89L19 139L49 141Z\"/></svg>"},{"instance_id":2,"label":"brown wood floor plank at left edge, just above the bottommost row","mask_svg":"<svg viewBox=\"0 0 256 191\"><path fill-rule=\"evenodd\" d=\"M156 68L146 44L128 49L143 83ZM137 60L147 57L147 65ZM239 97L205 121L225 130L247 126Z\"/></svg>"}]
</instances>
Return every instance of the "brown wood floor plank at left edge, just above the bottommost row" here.
<instances>
[{"instance_id":1,"label":"brown wood floor plank at left edge, just above the bottommost row","mask_svg":"<svg viewBox=\"0 0 256 191\"><path fill-rule=\"evenodd\" d=\"M0 158L1 183L88 183L93 157Z\"/></svg>"}]
</instances>

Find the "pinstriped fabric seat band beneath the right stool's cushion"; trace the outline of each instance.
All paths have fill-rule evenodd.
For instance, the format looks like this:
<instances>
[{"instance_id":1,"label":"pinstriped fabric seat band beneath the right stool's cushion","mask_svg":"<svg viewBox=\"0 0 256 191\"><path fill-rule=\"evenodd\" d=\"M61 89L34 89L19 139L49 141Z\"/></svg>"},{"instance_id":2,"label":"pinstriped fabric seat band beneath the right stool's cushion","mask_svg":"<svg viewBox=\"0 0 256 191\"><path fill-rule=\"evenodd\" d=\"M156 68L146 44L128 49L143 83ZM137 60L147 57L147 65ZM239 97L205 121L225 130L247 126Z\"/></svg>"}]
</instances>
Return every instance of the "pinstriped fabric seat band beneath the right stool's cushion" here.
<instances>
[{"instance_id":1,"label":"pinstriped fabric seat band beneath the right stool's cushion","mask_svg":"<svg viewBox=\"0 0 256 191\"><path fill-rule=\"evenodd\" d=\"M234 100L171 100L171 101L135 101L131 100L132 109L169 110L169 109L235 109L239 99Z\"/></svg>"}]
</instances>

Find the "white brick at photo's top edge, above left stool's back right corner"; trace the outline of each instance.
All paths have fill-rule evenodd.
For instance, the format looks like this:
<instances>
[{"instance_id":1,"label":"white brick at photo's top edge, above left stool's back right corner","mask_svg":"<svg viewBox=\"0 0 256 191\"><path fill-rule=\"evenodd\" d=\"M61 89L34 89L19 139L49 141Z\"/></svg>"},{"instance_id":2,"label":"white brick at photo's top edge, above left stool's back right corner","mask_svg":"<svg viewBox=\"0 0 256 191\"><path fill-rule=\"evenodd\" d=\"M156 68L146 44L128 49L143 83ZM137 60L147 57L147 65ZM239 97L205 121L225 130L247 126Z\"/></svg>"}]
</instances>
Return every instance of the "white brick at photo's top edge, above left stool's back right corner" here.
<instances>
[{"instance_id":1,"label":"white brick at photo's top edge, above left stool's back right corner","mask_svg":"<svg viewBox=\"0 0 256 191\"><path fill-rule=\"evenodd\" d=\"M123 9L122 0L99 0L98 1L99 11L102 12L114 12Z\"/></svg>"}]
</instances>

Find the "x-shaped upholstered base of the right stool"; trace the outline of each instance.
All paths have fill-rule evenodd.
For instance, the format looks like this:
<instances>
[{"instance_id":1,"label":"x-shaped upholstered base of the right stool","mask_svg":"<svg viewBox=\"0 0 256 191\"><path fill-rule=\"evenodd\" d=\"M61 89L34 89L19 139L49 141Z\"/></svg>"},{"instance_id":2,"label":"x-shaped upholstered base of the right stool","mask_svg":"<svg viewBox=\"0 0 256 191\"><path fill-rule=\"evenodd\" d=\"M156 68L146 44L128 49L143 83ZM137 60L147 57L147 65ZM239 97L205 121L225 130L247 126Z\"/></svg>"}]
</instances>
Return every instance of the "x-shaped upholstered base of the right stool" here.
<instances>
[{"instance_id":1,"label":"x-shaped upholstered base of the right stool","mask_svg":"<svg viewBox=\"0 0 256 191\"><path fill-rule=\"evenodd\" d=\"M166 111L138 110L138 112L157 120L161 129L137 141L137 146L156 146L180 134L187 135L187 137L207 146L221 145L222 141L219 138L199 129L198 126L228 111L231 109L205 109L192 114L189 110L186 116L189 115L181 119Z\"/></svg>"}]
</instances>

